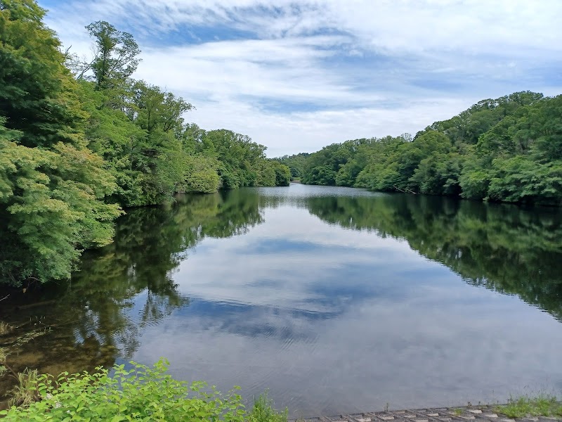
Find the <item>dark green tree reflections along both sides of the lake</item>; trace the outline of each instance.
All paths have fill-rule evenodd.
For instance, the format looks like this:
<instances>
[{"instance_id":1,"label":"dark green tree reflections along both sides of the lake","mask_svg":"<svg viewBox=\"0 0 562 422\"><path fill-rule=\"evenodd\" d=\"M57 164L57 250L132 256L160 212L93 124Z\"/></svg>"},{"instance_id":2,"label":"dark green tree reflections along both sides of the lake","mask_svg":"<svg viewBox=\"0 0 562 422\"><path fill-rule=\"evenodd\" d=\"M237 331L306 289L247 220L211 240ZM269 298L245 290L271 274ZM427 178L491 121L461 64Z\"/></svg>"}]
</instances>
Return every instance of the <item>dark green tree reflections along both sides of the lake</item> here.
<instances>
[{"instance_id":1,"label":"dark green tree reflections along both sides of the lake","mask_svg":"<svg viewBox=\"0 0 562 422\"><path fill-rule=\"evenodd\" d=\"M291 198L240 189L128 210L115 241L85 252L68 283L12 292L1 302L0 319L18 328L0 338L0 346L10 350L16 371L74 372L129 359L146 326L189 305L174 271L190 251L206 237L246 233L263 222L265 208L285 203L330 224L403 239L466 282L516 294L562 321L557 209L405 195ZM1 378L0 392L11 383Z\"/></svg>"}]
</instances>

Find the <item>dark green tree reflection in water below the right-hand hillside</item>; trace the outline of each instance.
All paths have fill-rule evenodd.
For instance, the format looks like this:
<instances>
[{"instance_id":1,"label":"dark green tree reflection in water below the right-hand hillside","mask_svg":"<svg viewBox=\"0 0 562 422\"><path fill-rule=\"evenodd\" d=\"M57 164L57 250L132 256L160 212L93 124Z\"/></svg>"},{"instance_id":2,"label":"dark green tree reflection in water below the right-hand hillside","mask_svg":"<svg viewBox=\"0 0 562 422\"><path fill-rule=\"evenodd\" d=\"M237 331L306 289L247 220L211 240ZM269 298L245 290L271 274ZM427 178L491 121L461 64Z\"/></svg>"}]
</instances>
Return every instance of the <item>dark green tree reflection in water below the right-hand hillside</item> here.
<instances>
[{"instance_id":1,"label":"dark green tree reflection in water below the right-hand hillside","mask_svg":"<svg viewBox=\"0 0 562 422\"><path fill-rule=\"evenodd\" d=\"M516 294L562 321L562 213L431 196L309 198L322 220L406 240L476 286Z\"/></svg>"}]
</instances>

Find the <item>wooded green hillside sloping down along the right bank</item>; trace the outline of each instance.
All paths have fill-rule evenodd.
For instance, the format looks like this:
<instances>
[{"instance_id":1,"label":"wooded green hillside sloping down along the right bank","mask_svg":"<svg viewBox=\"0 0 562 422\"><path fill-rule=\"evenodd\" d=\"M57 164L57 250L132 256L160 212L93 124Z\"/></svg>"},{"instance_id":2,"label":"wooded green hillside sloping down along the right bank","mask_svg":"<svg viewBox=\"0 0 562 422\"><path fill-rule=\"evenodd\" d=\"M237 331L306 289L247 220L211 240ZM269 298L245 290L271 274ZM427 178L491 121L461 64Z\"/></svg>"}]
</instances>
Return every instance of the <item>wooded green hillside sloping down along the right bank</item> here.
<instances>
[{"instance_id":1,"label":"wooded green hillside sloping down along the right bank","mask_svg":"<svg viewBox=\"0 0 562 422\"><path fill-rule=\"evenodd\" d=\"M277 158L304 184L562 204L562 96L480 101L418 132Z\"/></svg>"}]
</instances>

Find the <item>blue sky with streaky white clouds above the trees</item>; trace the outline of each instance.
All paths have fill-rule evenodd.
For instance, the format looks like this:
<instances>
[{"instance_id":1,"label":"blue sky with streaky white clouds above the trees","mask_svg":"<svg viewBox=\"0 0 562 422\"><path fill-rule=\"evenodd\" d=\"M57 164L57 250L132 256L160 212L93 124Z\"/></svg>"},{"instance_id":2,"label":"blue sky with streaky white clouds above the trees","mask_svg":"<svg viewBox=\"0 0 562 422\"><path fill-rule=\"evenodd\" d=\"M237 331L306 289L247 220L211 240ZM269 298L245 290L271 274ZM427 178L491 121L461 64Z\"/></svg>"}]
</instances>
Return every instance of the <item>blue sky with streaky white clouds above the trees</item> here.
<instances>
[{"instance_id":1,"label":"blue sky with streaky white clouds above the trees","mask_svg":"<svg viewBox=\"0 0 562 422\"><path fill-rule=\"evenodd\" d=\"M560 0L39 0L65 47L130 32L136 79L195 106L203 129L275 157L415 134L484 98L562 94Z\"/></svg>"}]
</instances>

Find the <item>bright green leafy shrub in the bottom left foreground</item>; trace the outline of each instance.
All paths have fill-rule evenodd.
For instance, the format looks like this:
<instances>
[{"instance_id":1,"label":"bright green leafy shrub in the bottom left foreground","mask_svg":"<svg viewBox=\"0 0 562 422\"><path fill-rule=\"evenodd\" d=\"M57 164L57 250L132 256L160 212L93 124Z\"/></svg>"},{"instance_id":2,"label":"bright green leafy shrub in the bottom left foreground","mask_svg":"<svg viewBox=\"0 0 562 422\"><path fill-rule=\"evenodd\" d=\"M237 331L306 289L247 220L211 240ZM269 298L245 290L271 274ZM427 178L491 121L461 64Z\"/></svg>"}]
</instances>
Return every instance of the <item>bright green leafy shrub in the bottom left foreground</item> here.
<instances>
[{"instance_id":1,"label":"bright green leafy shrub in the bottom left foreground","mask_svg":"<svg viewBox=\"0 0 562 422\"><path fill-rule=\"evenodd\" d=\"M63 373L58 378L30 378L25 388L39 401L0 411L5 421L283 421L265 398L265 414L247 412L235 390L226 396L202 382L177 381L160 359L152 368L131 362L96 373ZM266 406L263 408L262 406ZM265 416L266 418L263 418Z\"/></svg>"}]
</instances>

